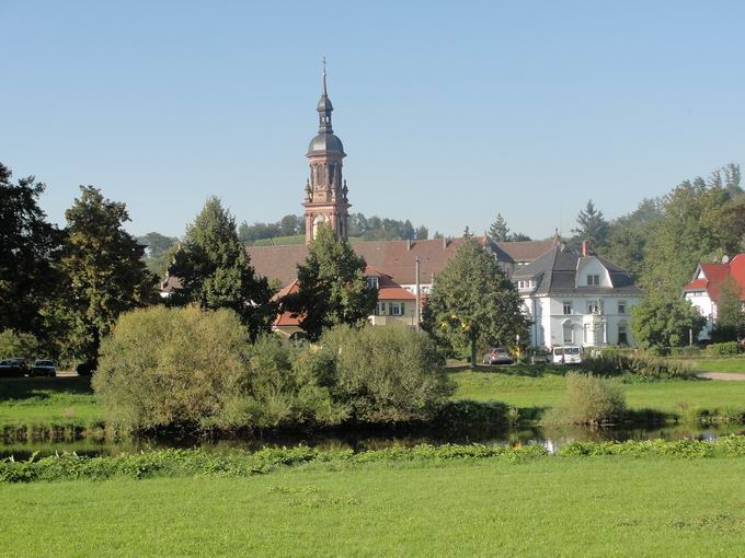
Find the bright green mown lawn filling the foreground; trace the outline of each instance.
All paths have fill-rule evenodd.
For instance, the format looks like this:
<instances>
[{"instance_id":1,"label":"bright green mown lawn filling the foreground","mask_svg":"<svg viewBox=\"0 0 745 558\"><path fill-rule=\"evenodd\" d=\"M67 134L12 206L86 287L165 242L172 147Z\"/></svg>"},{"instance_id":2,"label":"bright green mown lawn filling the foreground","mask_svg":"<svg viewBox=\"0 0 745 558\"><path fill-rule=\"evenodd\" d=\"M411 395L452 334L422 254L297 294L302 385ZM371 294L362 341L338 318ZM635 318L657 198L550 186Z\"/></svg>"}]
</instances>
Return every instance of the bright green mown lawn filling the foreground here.
<instances>
[{"instance_id":1,"label":"bright green mown lawn filling the foreground","mask_svg":"<svg viewBox=\"0 0 745 558\"><path fill-rule=\"evenodd\" d=\"M738 556L744 466L555 457L2 485L0 556Z\"/></svg>"}]
</instances>

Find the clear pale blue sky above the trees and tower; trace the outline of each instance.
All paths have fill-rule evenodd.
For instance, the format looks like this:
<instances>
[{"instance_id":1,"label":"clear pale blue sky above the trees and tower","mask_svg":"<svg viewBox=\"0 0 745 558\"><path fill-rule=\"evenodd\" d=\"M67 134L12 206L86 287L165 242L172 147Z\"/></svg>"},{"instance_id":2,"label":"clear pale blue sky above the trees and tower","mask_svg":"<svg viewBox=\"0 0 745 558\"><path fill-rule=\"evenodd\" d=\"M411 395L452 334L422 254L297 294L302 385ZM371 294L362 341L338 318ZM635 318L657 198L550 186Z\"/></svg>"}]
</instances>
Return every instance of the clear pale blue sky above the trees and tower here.
<instances>
[{"instance_id":1,"label":"clear pale blue sky above the trees and tower","mask_svg":"<svg viewBox=\"0 0 745 558\"><path fill-rule=\"evenodd\" d=\"M745 2L0 0L0 162L179 236L301 213L328 58L352 211L569 234L745 163Z\"/></svg>"}]
</instances>

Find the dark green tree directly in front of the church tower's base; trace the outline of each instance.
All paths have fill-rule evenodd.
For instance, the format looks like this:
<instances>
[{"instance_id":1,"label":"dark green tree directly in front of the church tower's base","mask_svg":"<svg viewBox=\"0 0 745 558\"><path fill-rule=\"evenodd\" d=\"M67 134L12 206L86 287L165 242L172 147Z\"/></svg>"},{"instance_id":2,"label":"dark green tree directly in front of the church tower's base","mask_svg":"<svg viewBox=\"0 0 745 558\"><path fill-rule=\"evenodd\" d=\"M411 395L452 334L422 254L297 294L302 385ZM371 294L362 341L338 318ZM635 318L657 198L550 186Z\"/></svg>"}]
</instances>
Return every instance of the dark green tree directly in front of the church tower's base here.
<instances>
[{"instance_id":1,"label":"dark green tree directly in front of the church tower's base","mask_svg":"<svg viewBox=\"0 0 745 558\"><path fill-rule=\"evenodd\" d=\"M375 311L377 291L365 282L365 259L348 242L339 240L331 226L322 225L308 246L308 257L298 265L298 291L283 306L300 317L310 340L335 325L359 326Z\"/></svg>"}]
</instances>

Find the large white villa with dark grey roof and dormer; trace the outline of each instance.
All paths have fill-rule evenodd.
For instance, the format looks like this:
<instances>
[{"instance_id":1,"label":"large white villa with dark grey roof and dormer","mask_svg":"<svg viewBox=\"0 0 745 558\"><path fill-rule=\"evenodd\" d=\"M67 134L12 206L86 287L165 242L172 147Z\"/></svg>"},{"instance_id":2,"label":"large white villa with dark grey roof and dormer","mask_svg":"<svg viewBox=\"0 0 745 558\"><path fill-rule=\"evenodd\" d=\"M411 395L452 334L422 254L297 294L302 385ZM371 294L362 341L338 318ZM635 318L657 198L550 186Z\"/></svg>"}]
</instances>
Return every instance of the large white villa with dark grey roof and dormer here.
<instances>
[{"instance_id":1,"label":"large white villa with dark grey roof and dormer","mask_svg":"<svg viewBox=\"0 0 745 558\"><path fill-rule=\"evenodd\" d=\"M517 269L513 282L530 317L530 345L633 346L630 310L642 291L607 259L555 245Z\"/></svg>"}]
</instances>

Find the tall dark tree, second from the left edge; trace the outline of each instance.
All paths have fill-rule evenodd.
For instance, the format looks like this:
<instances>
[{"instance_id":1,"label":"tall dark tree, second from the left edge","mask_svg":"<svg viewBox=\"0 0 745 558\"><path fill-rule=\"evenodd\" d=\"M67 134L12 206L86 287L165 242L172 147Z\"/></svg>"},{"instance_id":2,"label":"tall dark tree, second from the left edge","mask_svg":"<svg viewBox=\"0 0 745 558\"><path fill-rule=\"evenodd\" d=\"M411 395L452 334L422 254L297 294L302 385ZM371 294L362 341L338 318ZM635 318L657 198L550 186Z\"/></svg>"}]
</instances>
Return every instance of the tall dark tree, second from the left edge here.
<instances>
[{"instance_id":1,"label":"tall dark tree, second from the left edge","mask_svg":"<svg viewBox=\"0 0 745 558\"><path fill-rule=\"evenodd\" d=\"M67 239L58 269L65 277L65 317L76 352L95 360L101 339L123 312L154 298L156 278L142 261L142 246L124 230L126 206L93 186L65 212Z\"/></svg>"}]
</instances>

